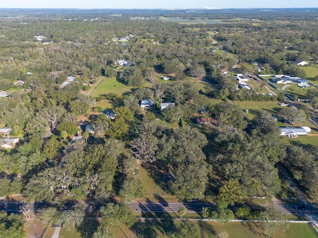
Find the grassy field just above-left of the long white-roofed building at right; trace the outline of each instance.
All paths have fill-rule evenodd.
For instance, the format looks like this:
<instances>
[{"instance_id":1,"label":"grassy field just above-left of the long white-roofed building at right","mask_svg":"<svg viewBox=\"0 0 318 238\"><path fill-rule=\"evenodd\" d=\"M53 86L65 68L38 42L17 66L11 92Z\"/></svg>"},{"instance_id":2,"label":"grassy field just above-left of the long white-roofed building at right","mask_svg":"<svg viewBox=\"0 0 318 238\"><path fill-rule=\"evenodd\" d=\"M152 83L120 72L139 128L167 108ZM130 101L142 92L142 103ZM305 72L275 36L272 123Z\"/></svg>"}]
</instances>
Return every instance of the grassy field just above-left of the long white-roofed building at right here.
<instances>
[{"instance_id":1,"label":"grassy field just above-left of the long white-roofed building at right","mask_svg":"<svg viewBox=\"0 0 318 238\"><path fill-rule=\"evenodd\" d=\"M268 102L256 102L256 101L235 101L236 104L242 109L245 117L248 119L253 119L256 115L259 114L261 110L271 113L272 115L278 115L281 107L276 101ZM248 109L248 113L245 112L245 109ZM244 110L244 111L243 111Z\"/></svg>"}]
</instances>

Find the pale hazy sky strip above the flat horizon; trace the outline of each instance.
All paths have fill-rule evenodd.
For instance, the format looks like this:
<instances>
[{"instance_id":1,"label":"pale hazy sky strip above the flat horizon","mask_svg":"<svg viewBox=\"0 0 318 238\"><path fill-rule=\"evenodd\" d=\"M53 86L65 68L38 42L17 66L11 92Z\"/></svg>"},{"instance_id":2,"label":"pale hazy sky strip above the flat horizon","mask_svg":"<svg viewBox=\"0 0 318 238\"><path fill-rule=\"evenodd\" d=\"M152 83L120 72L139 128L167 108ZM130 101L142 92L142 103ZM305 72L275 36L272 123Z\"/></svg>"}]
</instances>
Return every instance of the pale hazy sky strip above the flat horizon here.
<instances>
[{"instance_id":1,"label":"pale hazy sky strip above the flat horizon","mask_svg":"<svg viewBox=\"0 0 318 238\"><path fill-rule=\"evenodd\" d=\"M318 0L0 0L0 8L289 8Z\"/></svg>"}]
</instances>

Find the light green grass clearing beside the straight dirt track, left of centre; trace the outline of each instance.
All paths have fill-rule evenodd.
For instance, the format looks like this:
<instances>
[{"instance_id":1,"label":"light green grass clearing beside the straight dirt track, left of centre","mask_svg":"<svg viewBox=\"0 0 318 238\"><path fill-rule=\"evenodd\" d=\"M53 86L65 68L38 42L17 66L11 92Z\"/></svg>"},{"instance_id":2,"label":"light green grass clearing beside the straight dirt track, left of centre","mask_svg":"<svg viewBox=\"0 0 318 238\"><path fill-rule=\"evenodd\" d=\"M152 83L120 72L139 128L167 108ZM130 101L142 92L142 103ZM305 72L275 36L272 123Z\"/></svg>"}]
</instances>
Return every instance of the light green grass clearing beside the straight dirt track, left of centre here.
<instances>
[{"instance_id":1,"label":"light green grass clearing beside the straight dirt track, left of centre","mask_svg":"<svg viewBox=\"0 0 318 238\"><path fill-rule=\"evenodd\" d=\"M127 86L126 84L117 81L115 77L105 78L104 81L94 89L90 96L97 97L100 94L107 93L123 95L124 93L130 92L132 88L132 86Z\"/></svg>"}]
</instances>

